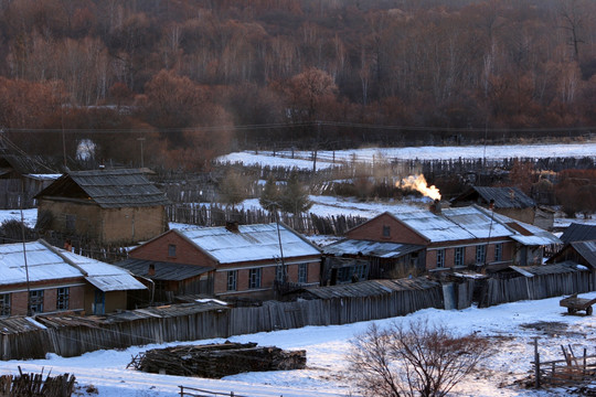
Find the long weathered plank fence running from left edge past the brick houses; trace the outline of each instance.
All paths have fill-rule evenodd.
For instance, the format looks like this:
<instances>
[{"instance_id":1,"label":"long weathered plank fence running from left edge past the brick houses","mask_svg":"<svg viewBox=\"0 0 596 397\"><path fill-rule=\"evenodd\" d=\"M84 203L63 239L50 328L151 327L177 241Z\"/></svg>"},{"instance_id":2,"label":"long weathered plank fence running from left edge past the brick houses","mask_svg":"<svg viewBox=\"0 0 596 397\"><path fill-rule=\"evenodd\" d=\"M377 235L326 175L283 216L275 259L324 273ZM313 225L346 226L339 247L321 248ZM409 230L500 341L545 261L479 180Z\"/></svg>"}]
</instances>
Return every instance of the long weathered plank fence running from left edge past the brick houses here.
<instances>
[{"instance_id":1,"label":"long weathered plank fence running from left edge past the brick houses","mask_svg":"<svg viewBox=\"0 0 596 397\"><path fill-rule=\"evenodd\" d=\"M224 308L160 318L146 315L118 322L110 321L109 316L105 321L72 318L76 319L73 325L68 324L68 319L38 316L45 330L0 334L0 357L40 358L46 353L71 357L100 348L228 337L307 325L347 324L441 307L443 292L437 286L366 298L272 301L257 308Z\"/></svg>"}]
</instances>

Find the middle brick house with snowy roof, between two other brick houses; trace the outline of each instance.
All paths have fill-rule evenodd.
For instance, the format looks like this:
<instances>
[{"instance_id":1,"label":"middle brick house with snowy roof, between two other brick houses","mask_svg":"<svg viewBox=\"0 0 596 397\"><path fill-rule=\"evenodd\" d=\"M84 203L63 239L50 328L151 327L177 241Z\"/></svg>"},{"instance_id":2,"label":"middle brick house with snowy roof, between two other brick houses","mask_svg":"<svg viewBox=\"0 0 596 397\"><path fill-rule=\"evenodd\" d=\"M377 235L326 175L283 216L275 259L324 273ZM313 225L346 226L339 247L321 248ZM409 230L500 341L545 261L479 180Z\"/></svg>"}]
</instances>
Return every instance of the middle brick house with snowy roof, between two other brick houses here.
<instances>
[{"instance_id":1,"label":"middle brick house with snowy roof, between two other brick houses","mask_svg":"<svg viewBox=\"0 0 596 397\"><path fill-rule=\"evenodd\" d=\"M136 247L129 257L209 269L201 275L207 285L203 293L222 299L269 299L275 281L317 286L321 261L316 246L276 223L172 229Z\"/></svg>"}]
</instances>

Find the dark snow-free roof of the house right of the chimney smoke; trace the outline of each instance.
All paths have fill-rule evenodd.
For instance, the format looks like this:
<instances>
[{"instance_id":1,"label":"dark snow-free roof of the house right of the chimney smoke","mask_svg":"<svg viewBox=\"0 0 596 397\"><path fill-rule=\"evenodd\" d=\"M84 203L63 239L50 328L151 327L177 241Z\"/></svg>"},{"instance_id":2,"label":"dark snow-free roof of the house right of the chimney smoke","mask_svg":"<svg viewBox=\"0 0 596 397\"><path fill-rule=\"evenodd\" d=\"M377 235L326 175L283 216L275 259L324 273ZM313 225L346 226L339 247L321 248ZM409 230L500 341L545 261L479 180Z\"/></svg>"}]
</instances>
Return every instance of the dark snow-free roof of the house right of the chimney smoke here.
<instances>
[{"instance_id":1,"label":"dark snow-free roof of the house right of the chimney smoke","mask_svg":"<svg viewBox=\"0 0 596 397\"><path fill-rule=\"evenodd\" d=\"M536 203L523 193L519 187L488 187L488 186L471 186L468 191L453 200L456 202L482 201L488 204L491 200L494 201L496 208L528 208L533 207Z\"/></svg>"}]
</instances>

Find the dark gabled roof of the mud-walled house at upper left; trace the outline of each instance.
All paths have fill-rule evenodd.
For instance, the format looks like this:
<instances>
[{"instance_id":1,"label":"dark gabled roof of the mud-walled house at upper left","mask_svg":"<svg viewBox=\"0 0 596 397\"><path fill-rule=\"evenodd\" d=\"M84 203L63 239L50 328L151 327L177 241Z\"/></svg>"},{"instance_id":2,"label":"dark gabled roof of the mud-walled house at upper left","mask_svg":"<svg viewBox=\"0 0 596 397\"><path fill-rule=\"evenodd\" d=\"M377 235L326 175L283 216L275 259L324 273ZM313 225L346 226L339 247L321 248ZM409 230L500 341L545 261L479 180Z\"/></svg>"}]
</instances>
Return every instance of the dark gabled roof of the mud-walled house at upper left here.
<instances>
[{"instance_id":1,"label":"dark gabled roof of the mud-walled house at upper left","mask_svg":"<svg viewBox=\"0 0 596 397\"><path fill-rule=\"evenodd\" d=\"M168 197L157 189L141 170L73 171L40 192L45 195L67 196L70 181L78 185L91 200L103 208L157 206L168 204Z\"/></svg>"}]
</instances>

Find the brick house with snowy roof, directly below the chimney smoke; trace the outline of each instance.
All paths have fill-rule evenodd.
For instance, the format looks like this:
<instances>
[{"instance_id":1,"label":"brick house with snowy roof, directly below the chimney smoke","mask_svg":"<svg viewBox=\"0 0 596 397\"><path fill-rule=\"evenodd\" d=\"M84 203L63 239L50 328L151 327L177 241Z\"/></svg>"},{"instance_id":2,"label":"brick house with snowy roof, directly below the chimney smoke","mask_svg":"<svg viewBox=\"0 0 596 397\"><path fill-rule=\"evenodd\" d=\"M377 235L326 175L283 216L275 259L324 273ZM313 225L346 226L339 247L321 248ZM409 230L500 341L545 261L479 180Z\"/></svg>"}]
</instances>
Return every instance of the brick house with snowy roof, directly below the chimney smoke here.
<instances>
[{"instance_id":1,"label":"brick house with snowy roof, directly below the chimney smoke","mask_svg":"<svg viewBox=\"0 0 596 397\"><path fill-rule=\"evenodd\" d=\"M540 264L542 247L558 243L555 236L535 226L476 205L385 212L348 230L347 237L423 246L418 260L430 271Z\"/></svg>"}]
</instances>

